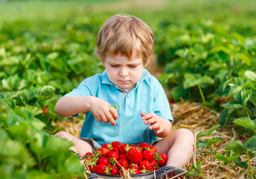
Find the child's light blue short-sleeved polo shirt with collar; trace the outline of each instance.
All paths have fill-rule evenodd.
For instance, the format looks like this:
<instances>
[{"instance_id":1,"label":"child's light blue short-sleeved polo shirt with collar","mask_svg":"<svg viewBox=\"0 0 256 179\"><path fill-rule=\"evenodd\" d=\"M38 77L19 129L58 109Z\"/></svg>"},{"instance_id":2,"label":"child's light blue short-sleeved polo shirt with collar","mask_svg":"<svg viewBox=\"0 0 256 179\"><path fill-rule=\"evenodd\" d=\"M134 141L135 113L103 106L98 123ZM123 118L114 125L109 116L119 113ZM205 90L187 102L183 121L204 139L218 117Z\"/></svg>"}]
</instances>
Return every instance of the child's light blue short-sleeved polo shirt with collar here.
<instances>
[{"instance_id":1,"label":"child's light blue short-sleeved polo shirt with collar","mask_svg":"<svg viewBox=\"0 0 256 179\"><path fill-rule=\"evenodd\" d=\"M96 96L112 106L119 105L116 125L97 121L90 111L86 112L80 137L93 138L100 145L120 141L124 144L150 143L158 139L154 130L149 130L140 113L155 113L173 121L170 105L159 81L146 69L127 95L108 78L106 71L88 77L65 96Z\"/></svg>"}]
</instances>

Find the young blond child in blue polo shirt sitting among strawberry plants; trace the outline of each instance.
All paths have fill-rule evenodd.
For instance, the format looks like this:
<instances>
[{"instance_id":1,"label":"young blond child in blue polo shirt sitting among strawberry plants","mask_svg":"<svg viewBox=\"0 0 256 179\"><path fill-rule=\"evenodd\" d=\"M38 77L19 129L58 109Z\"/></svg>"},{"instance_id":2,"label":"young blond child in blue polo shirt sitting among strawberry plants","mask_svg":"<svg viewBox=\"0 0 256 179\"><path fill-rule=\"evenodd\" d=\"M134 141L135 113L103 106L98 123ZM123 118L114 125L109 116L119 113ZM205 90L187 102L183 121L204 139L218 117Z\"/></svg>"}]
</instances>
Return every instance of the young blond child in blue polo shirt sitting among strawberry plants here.
<instances>
[{"instance_id":1,"label":"young blond child in blue polo shirt sitting among strawberry plants","mask_svg":"<svg viewBox=\"0 0 256 179\"><path fill-rule=\"evenodd\" d=\"M144 69L153 48L153 33L139 18L116 15L105 21L95 52L105 71L83 80L55 106L61 116L86 112L81 138L65 131L56 135L72 141L72 150L82 158L112 141L150 143L168 156L166 166L157 173L158 179L185 176L182 165L193 153L194 135L187 129L170 134L173 118L165 91Z\"/></svg>"}]
</instances>

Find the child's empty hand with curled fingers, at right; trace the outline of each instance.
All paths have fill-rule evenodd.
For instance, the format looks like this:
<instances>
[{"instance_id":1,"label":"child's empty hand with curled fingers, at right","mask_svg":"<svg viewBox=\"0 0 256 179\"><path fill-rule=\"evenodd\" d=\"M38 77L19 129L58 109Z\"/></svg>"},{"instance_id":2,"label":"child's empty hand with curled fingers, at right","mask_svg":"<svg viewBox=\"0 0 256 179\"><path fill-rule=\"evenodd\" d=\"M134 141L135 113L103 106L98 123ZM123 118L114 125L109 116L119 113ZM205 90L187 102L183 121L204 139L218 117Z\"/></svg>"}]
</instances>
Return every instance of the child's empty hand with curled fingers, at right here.
<instances>
[{"instance_id":1,"label":"child's empty hand with curled fingers, at right","mask_svg":"<svg viewBox=\"0 0 256 179\"><path fill-rule=\"evenodd\" d=\"M160 134L163 132L163 126L161 125L161 122L160 122L163 118L156 115L155 113L148 113L148 114L141 113L140 115L142 117L142 120L146 120L144 122L145 125L151 124L149 126L150 130L154 129L156 134Z\"/></svg>"}]
</instances>

